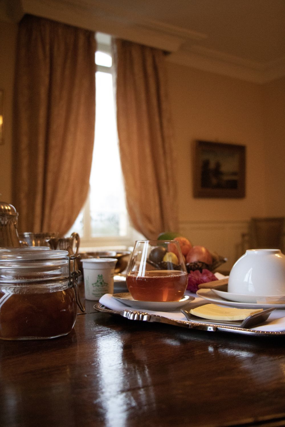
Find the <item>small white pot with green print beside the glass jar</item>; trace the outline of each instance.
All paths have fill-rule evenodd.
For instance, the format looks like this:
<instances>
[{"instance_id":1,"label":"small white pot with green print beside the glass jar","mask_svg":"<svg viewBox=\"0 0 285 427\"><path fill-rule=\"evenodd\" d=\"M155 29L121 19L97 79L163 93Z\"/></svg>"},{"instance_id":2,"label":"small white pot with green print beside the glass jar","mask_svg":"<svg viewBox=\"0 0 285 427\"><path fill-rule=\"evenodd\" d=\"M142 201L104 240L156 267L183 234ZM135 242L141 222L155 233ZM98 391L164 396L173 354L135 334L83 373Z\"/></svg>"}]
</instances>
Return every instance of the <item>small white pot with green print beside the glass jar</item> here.
<instances>
[{"instance_id":1,"label":"small white pot with green print beside the glass jar","mask_svg":"<svg viewBox=\"0 0 285 427\"><path fill-rule=\"evenodd\" d=\"M87 258L82 260L85 298L99 301L106 293L114 293L115 258Z\"/></svg>"}]
</instances>

